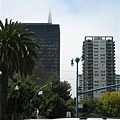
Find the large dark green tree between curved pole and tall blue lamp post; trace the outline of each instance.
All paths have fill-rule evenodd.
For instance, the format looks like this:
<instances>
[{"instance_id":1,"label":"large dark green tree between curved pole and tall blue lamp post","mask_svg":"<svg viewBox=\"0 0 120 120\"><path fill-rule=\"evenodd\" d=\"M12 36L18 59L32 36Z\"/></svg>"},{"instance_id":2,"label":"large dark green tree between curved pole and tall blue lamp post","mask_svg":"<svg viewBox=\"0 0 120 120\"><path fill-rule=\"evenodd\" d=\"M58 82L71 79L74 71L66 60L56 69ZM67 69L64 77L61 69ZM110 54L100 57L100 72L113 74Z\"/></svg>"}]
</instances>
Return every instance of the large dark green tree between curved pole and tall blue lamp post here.
<instances>
[{"instance_id":1,"label":"large dark green tree between curved pole and tall blue lamp post","mask_svg":"<svg viewBox=\"0 0 120 120\"><path fill-rule=\"evenodd\" d=\"M48 81L53 83L52 90L46 88L42 95L40 114L46 118L63 118L66 112L71 111L74 115L74 101L71 98L71 86L68 82L60 82L59 78L52 76Z\"/></svg>"}]
</instances>

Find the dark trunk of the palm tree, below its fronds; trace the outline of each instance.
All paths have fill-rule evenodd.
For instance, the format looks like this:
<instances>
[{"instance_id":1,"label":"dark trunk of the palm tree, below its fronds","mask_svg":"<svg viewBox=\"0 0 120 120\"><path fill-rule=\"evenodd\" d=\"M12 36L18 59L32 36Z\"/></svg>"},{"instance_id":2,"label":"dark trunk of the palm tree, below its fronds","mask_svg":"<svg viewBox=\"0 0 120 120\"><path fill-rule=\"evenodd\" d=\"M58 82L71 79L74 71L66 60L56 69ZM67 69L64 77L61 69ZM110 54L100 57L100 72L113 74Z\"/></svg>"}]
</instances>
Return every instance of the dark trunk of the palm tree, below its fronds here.
<instances>
[{"instance_id":1,"label":"dark trunk of the palm tree, below its fronds","mask_svg":"<svg viewBox=\"0 0 120 120\"><path fill-rule=\"evenodd\" d=\"M2 66L1 120L5 120L6 103L7 103L7 88L8 88L8 68L6 66Z\"/></svg>"}]
</instances>

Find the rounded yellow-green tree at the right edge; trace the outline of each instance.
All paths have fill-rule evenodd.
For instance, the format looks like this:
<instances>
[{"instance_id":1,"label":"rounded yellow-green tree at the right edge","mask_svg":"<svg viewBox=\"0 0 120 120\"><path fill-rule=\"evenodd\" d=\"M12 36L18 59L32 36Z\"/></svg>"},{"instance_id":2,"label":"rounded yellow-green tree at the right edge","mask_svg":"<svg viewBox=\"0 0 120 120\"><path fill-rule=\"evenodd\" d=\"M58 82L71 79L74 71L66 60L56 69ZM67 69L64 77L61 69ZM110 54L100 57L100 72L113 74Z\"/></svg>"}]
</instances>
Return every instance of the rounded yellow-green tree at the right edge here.
<instances>
[{"instance_id":1,"label":"rounded yellow-green tree at the right edge","mask_svg":"<svg viewBox=\"0 0 120 120\"><path fill-rule=\"evenodd\" d=\"M98 114L120 117L120 92L106 92L98 101Z\"/></svg>"}]
</instances>

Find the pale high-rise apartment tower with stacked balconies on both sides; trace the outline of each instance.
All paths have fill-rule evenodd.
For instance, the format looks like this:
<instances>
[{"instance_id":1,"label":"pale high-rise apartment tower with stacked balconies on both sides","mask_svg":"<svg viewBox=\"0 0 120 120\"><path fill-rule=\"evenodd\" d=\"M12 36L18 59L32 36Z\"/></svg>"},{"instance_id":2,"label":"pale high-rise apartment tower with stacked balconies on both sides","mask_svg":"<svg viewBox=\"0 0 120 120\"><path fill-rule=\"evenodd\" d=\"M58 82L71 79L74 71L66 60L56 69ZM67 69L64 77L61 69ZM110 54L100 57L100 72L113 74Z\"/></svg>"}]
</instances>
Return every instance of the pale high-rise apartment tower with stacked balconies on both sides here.
<instances>
[{"instance_id":1,"label":"pale high-rise apartment tower with stacked balconies on both sides","mask_svg":"<svg viewBox=\"0 0 120 120\"><path fill-rule=\"evenodd\" d=\"M112 36L86 36L83 42L82 91L115 84L115 43ZM87 93L84 97L99 98L103 89Z\"/></svg>"}]
</instances>

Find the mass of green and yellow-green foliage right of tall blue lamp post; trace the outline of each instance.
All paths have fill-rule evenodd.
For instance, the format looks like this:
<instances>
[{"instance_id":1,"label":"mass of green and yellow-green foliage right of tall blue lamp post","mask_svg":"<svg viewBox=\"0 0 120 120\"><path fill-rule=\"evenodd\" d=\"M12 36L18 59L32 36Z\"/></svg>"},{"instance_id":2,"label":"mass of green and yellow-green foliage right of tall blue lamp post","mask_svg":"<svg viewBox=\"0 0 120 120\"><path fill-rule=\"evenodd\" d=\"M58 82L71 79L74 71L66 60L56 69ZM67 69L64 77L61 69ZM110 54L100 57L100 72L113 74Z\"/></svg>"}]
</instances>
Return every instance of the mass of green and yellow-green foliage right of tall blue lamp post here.
<instances>
[{"instance_id":1,"label":"mass of green and yellow-green foliage right of tall blue lamp post","mask_svg":"<svg viewBox=\"0 0 120 120\"><path fill-rule=\"evenodd\" d=\"M120 117L120 92L106 92L99 99L86 98L80 101L83 109L80 116L86 117ZM85 105L85 106L84 106Z\"/></svg>"}]
</instances>

